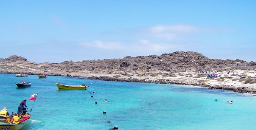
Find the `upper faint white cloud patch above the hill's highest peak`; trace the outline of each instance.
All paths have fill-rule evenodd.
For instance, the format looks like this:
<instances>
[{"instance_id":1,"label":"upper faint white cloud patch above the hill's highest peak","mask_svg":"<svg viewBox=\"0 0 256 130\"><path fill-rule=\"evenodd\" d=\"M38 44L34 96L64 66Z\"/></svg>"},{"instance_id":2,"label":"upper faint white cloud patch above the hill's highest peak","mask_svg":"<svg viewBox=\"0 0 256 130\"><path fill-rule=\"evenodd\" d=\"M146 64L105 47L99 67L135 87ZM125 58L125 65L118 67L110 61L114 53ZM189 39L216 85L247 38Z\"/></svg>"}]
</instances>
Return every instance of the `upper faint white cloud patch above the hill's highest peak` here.
<instances>
[{"instance_id":1,"label":"upper faint white cloud patch above the hill's highest peak","mask_svg":"<svg viewBox=\"0 0 256 130\"><path fill-rule=\"evenodd\" d=\"M196 25L176 24L176 25L155 25L150 27L135 28L130 31L143 39L157 40L191 40L198 36L209 34L220 34L223 32L234 31L232 28L222 27L203 27Z\"/></svg>"}]
</instances>

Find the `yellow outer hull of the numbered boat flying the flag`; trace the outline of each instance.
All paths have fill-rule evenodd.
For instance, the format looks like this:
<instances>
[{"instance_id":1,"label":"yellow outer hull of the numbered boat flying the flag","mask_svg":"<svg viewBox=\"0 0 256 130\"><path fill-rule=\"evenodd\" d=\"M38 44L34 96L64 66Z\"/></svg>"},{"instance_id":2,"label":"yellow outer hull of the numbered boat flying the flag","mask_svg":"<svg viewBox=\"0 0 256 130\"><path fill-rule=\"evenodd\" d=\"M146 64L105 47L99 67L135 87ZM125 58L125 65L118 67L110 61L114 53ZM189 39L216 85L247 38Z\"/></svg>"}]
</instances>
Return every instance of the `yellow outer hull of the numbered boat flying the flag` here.
<instances>
[{"instance_id":1,"label":"yellow outer hull of the numbered boat flying the flag","mask_svg":"<svg viewBox=\"0 0 256 130\"><path fill-rule=\"evenodd\" d=\"M7 124L0 122L0 130L20 130L27 124L29 118L18 124Z\"/></svg>"}]
</instances>

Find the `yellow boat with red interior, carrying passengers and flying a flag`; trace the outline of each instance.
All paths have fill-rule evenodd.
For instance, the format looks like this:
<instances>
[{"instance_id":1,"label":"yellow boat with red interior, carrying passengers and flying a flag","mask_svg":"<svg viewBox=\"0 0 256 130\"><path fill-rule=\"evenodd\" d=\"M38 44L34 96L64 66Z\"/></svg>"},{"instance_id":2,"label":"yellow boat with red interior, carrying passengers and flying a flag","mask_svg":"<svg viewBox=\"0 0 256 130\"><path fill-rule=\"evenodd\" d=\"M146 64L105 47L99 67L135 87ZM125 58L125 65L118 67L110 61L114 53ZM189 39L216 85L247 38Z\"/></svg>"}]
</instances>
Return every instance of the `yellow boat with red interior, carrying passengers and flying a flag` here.
<instances>
[{"instance_id":1,"label":"yellow boat with red interior, carrying passengers and flying a flag","mask_svg":"<svg viewBox=\"0 0 256 130\"><path fill-rule=\"evenodd\" d=\"M0 122L0 130L20 130L27 124L29 118L30 118L30 115L25 115L20 119L19 122L15 124Z\"/></svg>"}]
</instances>

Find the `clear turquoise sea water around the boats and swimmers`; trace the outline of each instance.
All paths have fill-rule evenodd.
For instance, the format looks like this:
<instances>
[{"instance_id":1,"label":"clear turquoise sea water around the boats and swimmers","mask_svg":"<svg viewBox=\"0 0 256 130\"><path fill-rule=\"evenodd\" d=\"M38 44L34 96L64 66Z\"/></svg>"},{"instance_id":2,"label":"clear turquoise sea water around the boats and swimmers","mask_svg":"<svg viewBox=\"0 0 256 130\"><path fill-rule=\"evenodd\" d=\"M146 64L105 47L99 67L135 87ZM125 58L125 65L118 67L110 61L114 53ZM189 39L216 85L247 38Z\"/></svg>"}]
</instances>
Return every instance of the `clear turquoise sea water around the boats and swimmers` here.
<instances>
[{"instance_id":1,"label":"clear turquoise sea water around the boats and swimmers","mask_svg":"<svg viewBox=\"0 0 256 130\"><path fill-rule=\"evenodd\" d=\"M27 100L28 109L33 103L34 107L29 124L23 130L108 130L115 125L119 130L256 128L256 97L252 95L191 86L59 76L39 79L35 75L21 78L0 74L0 79L0 107L7 107L9 112L17 112L24 98L38 93L35 103ZM15 83L22 79L31 82L31 87L17 88ZM89 85L87 90L58 90L55 85L83 82ZM233 100L233 104L226 103L227 100ZM107 123L108 120L111 122Z\"/></svg>"}]
</instances>

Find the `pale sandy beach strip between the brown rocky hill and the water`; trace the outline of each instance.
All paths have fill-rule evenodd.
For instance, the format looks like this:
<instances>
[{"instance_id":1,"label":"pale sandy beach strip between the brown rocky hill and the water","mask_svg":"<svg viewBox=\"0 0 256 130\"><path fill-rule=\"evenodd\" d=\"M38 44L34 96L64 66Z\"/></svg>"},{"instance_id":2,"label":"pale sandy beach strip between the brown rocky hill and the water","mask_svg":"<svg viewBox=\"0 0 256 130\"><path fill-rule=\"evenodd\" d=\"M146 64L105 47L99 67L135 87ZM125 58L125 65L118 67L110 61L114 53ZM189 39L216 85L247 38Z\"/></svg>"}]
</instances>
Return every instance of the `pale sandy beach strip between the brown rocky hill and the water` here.
<instances>
[{"instance_id":1,"label":"pale sandy beach strip between the brown rocky hill and the water","mask_svg":"<svg viewBox=\"0 0 256 130\"><path fill-rule=\"evenodd\" d=\"M181 84L181 85L195 85L201 87L215 88L215 89L239 89L243 90L241 93L256 93L256 84L253 81L246 82L249 79L256 76L255 71L248 70L236 70L233 72L229 71L220 72L217 77L207 77L209 73L198 73L198 72L182 72L182 73L172 73L172 76L168 77L165 74L157 74L154 76L137 76L132 73L126 74L128 76L118 75L118 74L106 74L106 73L85 73L85 74L71 74L76 77L111 77L111 78L123 78L123 79L138 79L145 80L147 82L159 82L168 81L165 83ZM158 72L159 73L159 72ZM212 72L210 72L212 73ZM220 77L221 75L221 77ZM233 88L233 89L232 89Z\"/></svg>"}]
</instances>

